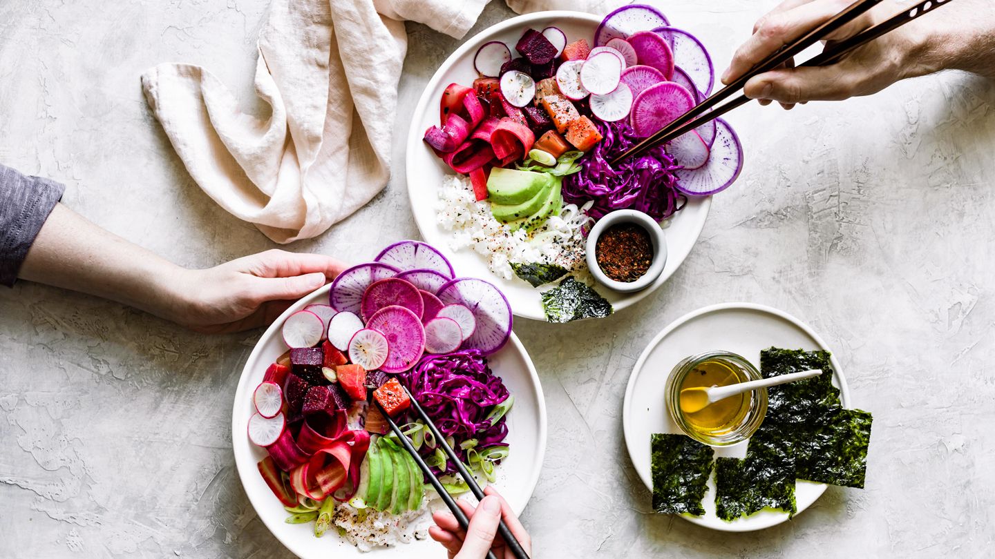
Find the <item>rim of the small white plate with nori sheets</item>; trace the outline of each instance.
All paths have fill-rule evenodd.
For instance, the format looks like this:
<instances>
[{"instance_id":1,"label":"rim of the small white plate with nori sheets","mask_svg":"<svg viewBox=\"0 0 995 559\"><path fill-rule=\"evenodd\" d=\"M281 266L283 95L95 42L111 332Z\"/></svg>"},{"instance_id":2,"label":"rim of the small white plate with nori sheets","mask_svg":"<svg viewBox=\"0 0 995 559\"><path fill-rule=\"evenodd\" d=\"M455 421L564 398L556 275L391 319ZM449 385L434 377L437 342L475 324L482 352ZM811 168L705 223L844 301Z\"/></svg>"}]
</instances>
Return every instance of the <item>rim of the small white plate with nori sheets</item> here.
<instances>
[{"instance_id":1,"label":"rim of the small white plate with nori sheets","mask_svg":"<svg viewBox=\"0 0 995 559\"><path fill-rule=\"evenodd\" d=\"M715 312L719 310L755 310L760 312L766 312L768 314L773 314L774 316L787 320L794 326L798 327L807 335L811 336L819 347L825 349L826 351L830 351L829 346L826 344L826 341L822 339L822 336L817 334L815 330L809 327L808 324L802 322L792 314L789 314L779 308L768 306L766 304L759 304L754 302L720 302L716 304L709 304L707 306L702 306L700 308L692 310L691 312L688 312L684 316L681 316L680 318L668 324L663 330L661 330L656 336L654 336L652 340L650 340L650 343L646 344L646 348L643 349L643 352L640 354L639 359L636 360L636 364L633 365L632 372L629 373L629 382L628 384L626 384L625 398L622 401L622 435L625 438L626 452L629 453L630 461L633 461L633 445L634 445L633 438L635 437L635 434L632 433L634 427L631 425L629 418L631 416L631 409L632 409L632 394L636 388L637 371L641 371L643 369L643 365L646 363L647 358L650 356L650 352L653 351L653 349L660 344L660 340L667 337L671 332L673 332L674 330L676 330L678 327L682 326L686 322L694 318L697 318L698 316L701 316L703 314L708 314L709 312ZM836 353L830 351L829 362L830 364L833 365L833 368L836 369L836 375L834 376L836 378L836 381L840 384L840 401L841 401L840 403L844 408L849 409L850 388L847 386L847 378L846 375L843 374L843 367L840 366L840 362L836 358ZM639 478L643 482L643 484L646 485L646 487L649 488L650 491L653 491L653 480L643 477L643 474L640 472L639 468L636 467L635 461L633 461L633 468L636 469L636 474L639 475ZM813 483L815 485L821 485L820 487L818 487L819 495L817 495L815 500L812 501L814 503L816 500L819 500L819 497L822 496L822 493L826 491L826 484L815 483L811 481L810 483ZM799 510L795 514L797 515L801 513L802 510ZM720 529L706 525L699 518L696 517L689 517L684 514L677 514L676 516L679 516L684 520L695 523L699 526L704 526L706 528L712 528L726 532L752 532L755 530L762 530L765 528L769 528L770 526L783 523L785 520L788 519L787 517L785 517L782 520L779 520L777 522L774 522L773 524L769 524L766 526L741 526L737 525L736 523L729 522L727 528Z\"/></svg>"}]
</instances>

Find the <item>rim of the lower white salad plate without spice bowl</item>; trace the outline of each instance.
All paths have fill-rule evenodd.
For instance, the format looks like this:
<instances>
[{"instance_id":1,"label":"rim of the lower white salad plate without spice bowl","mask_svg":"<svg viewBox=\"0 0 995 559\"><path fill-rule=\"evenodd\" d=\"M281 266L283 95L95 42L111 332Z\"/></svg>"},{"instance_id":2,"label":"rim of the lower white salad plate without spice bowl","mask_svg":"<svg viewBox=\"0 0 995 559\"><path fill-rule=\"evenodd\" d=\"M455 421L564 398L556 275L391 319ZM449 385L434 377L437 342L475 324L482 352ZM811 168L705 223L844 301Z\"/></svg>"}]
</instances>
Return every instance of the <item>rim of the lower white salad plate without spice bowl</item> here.
<instances>
[{"instance_id":1,"label":"rim of the lower white salad plate without spice bowl","mask_svg":"<svg viewBox=\"0 0 995 559\"><path fill-rule=\"evenodd\" d=\"M253 510L256 511L256 515L260 518L260 520L263 521L263 524L266 526L266 528L270 530L270 533L273 534L273 536L277 538L277 540L280 541L280 543L282 543L284 547L289 549L295 555L298 555L298 557L303 557L304 556L303 553L305 553L305 550L301 549L297 545L296 540L294 538L285 538L284 536L286 534L282 534L280 530L276 529L275 525L267 521L266 516L259 514L258 507L256 506L256 501L253 498L253 493L251 493L245 487L245 482L243 481L243 478L247 475L257 472L257 469L255 467L252 467L256 466L255 463L244 464L246 461L240 460L239 458L239 454L235 448L236 447L235 441L240 437L240 434L236 432L236 424L238 423L238 417L239 417L239 408L240 408L239 403L245 402L245 399L249 397L247 395L247 391L249 389L248 385L245 384L245 381L248 375L252 373L252 371L250 370L251 369L250 365L254 364L255 361L259 360L259 355L263 351L264 341L269 340L274 335L279 335L279 329L283 325L284 321L287 319L288 316L290 316L294 312L297 312L299 309L303 308L307 304L315 304L315 302L311 300L314 297L318 296L319 301L326 300L328 298L327 293L330 287L331 284L326 283L318 287L317 289L314 289L310 293L307 293L306 295L300 297L297 300L297 302L292 304L279 317L277 317L277 319L274 320L269 327L267 327L266 331L263 332L263 335L260 336L259 340L257 340L256 345L253 346L252 352L249 353L249 357L246 359L246 364L242 367L242 374L239 375L238 386L235 391L235 401L232 403L232 455L234 455L235 457L235 469L236 471L238 471L239 474L239 483L242 485L243 490L246 491L246 496L249 497L249 503L252 505ZM505 344L504 347L502 347L498 351L504 351L505 349L508 348L508 345L513 346L515 351L518 352L518 354L522 357L522 360L525 362L525 368L528 371L529 382L531 382L532 385L535 387L535 397L536 401L538 402L538 407L536 408L535 412L538 415L538 423L539 423L539 430L538 433L536 434L536 440L539 442L538 446L539 449L536 455L534 456L533 462L535 464L538 464L539 466L535 468L534 471L532 471L530 478L527 479L524 484L519 485L528 488L527 498L525 499L524 504L522 504L521 507L512 506L514 513L516 515L520 515L522 510L524 510L524 507L528 505L528 501L532 500L532 493L535 492L535 485L538 484L539 474L542 471L542 464L545 461L546 443L547 443L546 400L545 400L545 394L542 392L542 382L539 380L539 375L535 370L535 364L532 363L532 357L528 354L528 351L525 350L525 346L521 344L521 341L518 339L518 336L513 331L511 332L511 335L508 337L508 344ZM243 436L242 438L244 439L244 434L242 434L242 436ZM277 526L279 526L279 524L277 524Z\"/></svg>"}]
</instances>

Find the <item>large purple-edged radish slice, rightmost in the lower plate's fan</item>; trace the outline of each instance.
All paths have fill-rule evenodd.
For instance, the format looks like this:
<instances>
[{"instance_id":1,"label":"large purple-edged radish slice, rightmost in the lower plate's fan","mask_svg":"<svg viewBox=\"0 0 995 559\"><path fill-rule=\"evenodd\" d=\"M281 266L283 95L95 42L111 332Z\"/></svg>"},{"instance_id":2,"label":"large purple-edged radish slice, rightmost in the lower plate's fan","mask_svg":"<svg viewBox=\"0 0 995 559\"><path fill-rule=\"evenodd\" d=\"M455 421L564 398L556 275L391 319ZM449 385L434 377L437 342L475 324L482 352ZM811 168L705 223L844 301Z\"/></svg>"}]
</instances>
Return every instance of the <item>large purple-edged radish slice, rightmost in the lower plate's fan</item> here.
<instances>
[{"instance_id":1,"label":"large purple-edged radish slice, rightmost in the lower plate's fan","mask_svg":"<svg viewBox=\"0 0 995 559\"><path fill-rule=\"evenodd\" d=\"M497 287L485 280L463 278L443 285L438 295L446 304L459 303L473 311L477 328L464 347L494 353L507 342L511 335L511 305Z\"/></svg>"}]
</instances>

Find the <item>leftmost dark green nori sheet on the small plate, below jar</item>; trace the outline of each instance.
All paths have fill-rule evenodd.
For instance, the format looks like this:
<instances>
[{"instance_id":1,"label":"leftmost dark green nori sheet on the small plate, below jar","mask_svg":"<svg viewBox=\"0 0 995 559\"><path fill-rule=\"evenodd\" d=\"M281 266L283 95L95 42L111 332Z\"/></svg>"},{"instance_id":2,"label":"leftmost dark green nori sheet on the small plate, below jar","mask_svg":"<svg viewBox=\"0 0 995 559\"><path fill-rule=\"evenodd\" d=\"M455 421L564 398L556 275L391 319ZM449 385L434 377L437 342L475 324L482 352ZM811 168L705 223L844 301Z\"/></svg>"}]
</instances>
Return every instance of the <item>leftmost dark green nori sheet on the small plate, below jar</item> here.
<instances>
[{"instance_id":1,"label":"leftmost dark green nori sheet on the small plate, below jar","mask_svg":"<svg viewBox=\"0 0 995 559\"><path fill-rule=\"evenodd\" d=\"M704 514L715 452L686 435L655 433L650 438L653 508L657 512Z\"/></svg>"}]
</instances>

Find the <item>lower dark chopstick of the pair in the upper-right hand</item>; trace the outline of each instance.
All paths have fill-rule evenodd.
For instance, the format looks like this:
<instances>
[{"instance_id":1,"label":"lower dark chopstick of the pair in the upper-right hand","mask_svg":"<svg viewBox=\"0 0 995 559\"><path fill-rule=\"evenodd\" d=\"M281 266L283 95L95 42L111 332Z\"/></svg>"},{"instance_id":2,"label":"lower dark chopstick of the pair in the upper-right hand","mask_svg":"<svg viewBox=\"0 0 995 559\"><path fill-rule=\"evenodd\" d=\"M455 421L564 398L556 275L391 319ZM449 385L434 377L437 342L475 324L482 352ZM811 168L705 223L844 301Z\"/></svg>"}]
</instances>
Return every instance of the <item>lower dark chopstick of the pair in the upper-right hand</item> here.
<instances>
[{"instance_id":1,"label":"lower dark chopstick of the pair in the upper-right hand","mask_svg":"<svg viewBox=\"0 0 995 559\"><path fill-rule=\"evenodd\" d=\"M799 67L829 66L831 64L834 64L838 62L841 58L843 58L845 55L853 51L854 49L862 47L870 43L871 41L878 39L882 35L894 31L896 28L925 14L932 8L938 8L939 6L942 6L944 4L949 4L952 1L953 0L922 0L915 6L903 9L895 16L892 16L888 20L870 29L867 29L857 35L854 35L849 39L845 39L843 41L833 44L831 47L827 48L822 54L813 57L811 60L806 61L804 64L799 65ZM704 124L708 120L711 120L713 118L718 118L719 116L725 114L726 112L732 110L733 108L746 104L750 100L751 99L746 95L740 95L732 99L731 101L723 104L722 106L719 106L718 108L715 108L709 112L705 112L701 115L698 115L696 118L686 122L685 124L682 124L679 127L674 127L673 124L668 125L657 134L651 136L650 139L654 139L653 145L660 145L662 143L666 143L674 138L680 137L682 134L694 130L695 128L697 128L701 124ZM678 121L680 121L680 118L675 120L675 122ZM657 137L658 134L660 136L659 138ZM642 151L637 152L636 149L641 145L643 145L643 143L634 146L632 149L629 150L629 152L623 153L620 157L618 157L615 161L613 161L613 164L630 155L636 155L637 153L641 153ZM647 149L653 147L653 145L647 146Z\"/></svg>"}]
</instances>

